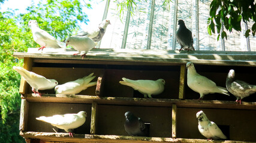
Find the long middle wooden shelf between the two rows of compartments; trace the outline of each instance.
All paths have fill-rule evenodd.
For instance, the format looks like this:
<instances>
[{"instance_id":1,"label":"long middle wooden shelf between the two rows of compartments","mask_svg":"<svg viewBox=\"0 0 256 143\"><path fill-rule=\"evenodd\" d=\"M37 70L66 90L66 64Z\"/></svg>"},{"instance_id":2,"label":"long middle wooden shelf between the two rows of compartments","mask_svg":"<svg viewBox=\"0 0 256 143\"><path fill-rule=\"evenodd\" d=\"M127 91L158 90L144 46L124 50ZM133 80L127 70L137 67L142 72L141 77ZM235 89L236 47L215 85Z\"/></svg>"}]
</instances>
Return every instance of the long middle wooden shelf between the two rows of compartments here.
<instances>
[{"instance_id":1,"label":"long middle wooden shelf between the two rows of compartments","mask_svg":"<svg viewBox=\"0 0 256 143\"><path fill-rule=\"evenodd\" d=\"M256 110L256 102L242 102L237 105L235 101L219 100L177 100L177 99L157 99L157 98L125 98L125 97L97 97L89 95L62 95L62 94L43 94L37 97L35 94L26 94L24 99L29 102L64 102L64 103L88 103L96 101L98 104L112 105L143 105L156 107L177 107L191 108L230 108L230 109L248 109Z\"/></svg>"}]
</instances>

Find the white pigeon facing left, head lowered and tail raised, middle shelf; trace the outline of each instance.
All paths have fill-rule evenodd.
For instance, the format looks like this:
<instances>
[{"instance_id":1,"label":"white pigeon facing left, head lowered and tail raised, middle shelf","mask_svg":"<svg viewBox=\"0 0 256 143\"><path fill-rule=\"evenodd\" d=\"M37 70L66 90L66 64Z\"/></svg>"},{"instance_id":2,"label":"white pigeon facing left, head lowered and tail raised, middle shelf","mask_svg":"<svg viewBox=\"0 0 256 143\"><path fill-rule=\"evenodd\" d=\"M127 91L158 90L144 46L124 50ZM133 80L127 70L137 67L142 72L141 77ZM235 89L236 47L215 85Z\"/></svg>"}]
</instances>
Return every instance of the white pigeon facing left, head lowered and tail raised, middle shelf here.
<instances>
[{"instance_id":1,"label":"white pigeon facing left, head lowered and tail raised, middle shelf","mask_svg":"<svg viewBox=\"0 0 256 143\"><path fill-rule=\"evenodd\" d=\"M55 86L55 92L56 94L78 94L79 92L97 84L97 82L91 82L92 79L95 78L95 76L92 75L94 75L94 73L89 74L89 76L64 83L63 85L57 85Z\"/></svg>"}]
</instances>

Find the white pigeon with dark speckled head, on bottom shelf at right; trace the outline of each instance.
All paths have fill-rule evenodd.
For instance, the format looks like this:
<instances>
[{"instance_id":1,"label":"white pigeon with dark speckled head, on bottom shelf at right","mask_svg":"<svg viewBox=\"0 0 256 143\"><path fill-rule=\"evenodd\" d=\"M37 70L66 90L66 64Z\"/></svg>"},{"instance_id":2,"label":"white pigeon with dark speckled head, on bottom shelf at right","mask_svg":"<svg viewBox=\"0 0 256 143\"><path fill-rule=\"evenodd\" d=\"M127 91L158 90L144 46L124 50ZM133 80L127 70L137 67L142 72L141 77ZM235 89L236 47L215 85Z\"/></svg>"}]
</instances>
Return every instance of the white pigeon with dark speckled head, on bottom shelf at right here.
<instances>
[{"instance_id":1,"label":"white pigeon with dark speckled head, on bottom shelf at right","mask_svg":"<svg viewBox=\"0 0 256 143\"><path fill-rule=\"evenodd\" d=\"M203 111L197 112L198 120L198 130L199 132L209 139L227 139L221 129L216 125L216 123L207 119L206 114Z\"/></svg>"}]
</instances>

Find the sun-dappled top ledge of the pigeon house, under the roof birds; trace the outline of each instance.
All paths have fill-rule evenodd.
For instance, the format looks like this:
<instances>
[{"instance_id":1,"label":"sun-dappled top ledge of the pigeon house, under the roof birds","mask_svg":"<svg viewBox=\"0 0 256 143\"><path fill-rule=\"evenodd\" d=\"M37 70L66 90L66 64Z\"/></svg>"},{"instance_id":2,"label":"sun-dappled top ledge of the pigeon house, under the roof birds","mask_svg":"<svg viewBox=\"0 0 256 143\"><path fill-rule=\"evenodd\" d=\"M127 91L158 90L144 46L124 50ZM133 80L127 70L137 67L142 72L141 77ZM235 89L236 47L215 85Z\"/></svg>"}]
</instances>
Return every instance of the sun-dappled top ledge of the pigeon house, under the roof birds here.
<instances>
[{"instance_id":1,"label":"sun-dappled top ledge of the pigeon house, under the roof birds","mask_svg":"<svg viewBox=\"0 0 256 143\"><path fill-rule=\"evenodd\" d=\"M82 60L79 56L73 56L75 51L43 53L29 48L28 52L14 52L14 57L24 58L54 58ZM256 52L230 52L230 51L172 51L156 49L92 49L86 54L85 60L100 61L134 61L153 63L187 63L191 61L197 64L212 65L236 65L256 66Z\"/></svg>"}]
</instances>

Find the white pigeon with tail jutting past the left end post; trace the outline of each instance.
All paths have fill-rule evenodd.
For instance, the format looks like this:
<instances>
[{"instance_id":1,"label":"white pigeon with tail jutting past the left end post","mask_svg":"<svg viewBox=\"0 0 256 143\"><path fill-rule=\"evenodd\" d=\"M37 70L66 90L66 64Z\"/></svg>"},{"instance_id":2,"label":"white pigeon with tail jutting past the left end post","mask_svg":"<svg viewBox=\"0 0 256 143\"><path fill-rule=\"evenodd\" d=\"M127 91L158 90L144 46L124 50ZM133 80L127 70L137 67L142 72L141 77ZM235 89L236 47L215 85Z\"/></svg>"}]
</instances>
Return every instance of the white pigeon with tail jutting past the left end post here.
<instances>
[{"instance_id":1,"label":"white pigeon with tail jutting past the left end post","mask_svg":"<svg viewBox=\"0 0 256 143\"><path fill-rule=\"evenodd\" d=\"M46 79L46 77L33 73L32 71L25 70L22 67L13 66L13 69L23 76L26 82L28 82L32 87L32 91L35 94L40 95L40 97L41 93L38 92L38 90L52 89L58 85L58 82L55 79Z\"/></svg>"}]
</instances>

